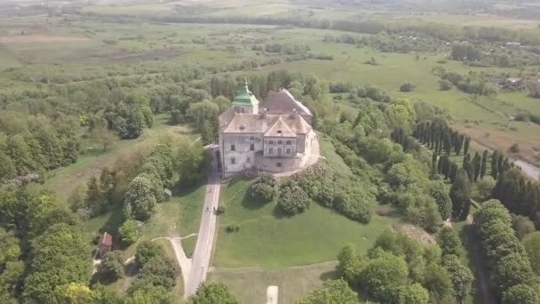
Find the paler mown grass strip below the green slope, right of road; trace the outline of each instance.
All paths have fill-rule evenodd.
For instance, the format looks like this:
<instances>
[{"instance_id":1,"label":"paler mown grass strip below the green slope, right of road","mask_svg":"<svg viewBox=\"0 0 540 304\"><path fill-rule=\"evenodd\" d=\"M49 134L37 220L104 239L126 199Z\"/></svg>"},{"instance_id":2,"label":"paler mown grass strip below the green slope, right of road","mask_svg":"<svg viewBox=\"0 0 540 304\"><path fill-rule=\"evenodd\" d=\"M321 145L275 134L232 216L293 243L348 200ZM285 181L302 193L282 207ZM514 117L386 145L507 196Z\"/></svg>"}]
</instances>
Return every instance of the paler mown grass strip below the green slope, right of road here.
<instances>
[{"instance_id":1,"label":"paler mown grass strip below the green slope, right of road","mask_svg":"<svg viewBox=\"0 0 540 304\"><path fill-rule=\"evenodd\" d=\"M336 264L332 261L282 270L217 268L209 273L208 280L226 284L242 303L266 303L266 287L269 285L279 287L280 303L294 303L319 289L325 280L336 278Z\"/></svg>"}]
</instances>

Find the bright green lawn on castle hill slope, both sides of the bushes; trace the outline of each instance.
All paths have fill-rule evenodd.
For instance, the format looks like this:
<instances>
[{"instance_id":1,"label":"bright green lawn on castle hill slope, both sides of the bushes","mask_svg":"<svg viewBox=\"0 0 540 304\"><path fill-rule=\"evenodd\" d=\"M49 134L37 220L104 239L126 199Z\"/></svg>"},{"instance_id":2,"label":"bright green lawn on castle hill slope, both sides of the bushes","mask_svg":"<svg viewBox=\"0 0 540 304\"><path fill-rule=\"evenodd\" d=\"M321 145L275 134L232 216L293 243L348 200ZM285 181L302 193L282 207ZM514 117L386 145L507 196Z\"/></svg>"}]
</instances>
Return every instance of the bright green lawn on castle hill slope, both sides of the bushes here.
<instances>
[{"instance_id":1,"label":"bright green lawn on castle hill slope, both sides of the bushes","mask_svg":"<svg viewBox=\"0 0 540 304\"><path fill-rule=\"evenodd\" d=\"M320 142L327 165L345 174L350 172L331 144L324 138ZM280 269L321 263L336 260L347 243L364 253L382 230L397 221L375 214L368 225L363 225L315 203L304 213L283 217L276 210L276 200L262 204L251 199L252 182L238 178L221 187L219 204L226 205L226 212L218 222L213 260L218 268ZM226 227L232 223L240 224L240 231L227 233Z\"/></svg>"}]
</instances>

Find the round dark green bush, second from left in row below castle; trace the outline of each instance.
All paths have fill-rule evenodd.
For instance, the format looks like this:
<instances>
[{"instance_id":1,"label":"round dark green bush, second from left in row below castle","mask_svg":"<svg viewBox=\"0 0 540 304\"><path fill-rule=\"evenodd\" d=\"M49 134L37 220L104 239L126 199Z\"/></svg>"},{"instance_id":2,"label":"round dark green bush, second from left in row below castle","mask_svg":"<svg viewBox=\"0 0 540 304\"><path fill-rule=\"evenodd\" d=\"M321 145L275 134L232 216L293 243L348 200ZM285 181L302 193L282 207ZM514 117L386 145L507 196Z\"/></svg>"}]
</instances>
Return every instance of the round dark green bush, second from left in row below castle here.
<instances>
[{"instance_id":1,"label":"round dark green bush, second from left in row below castle","mask_svg":"<svg viewBox=\"0 0 540 304\"><path fill-rule=\"evenodd\" d=\"M280 185L280 197L277 205L285 214L294 215L305 212L310 204L309 196L294 181L285 180Z\"/></svg>"}]
</instances>

